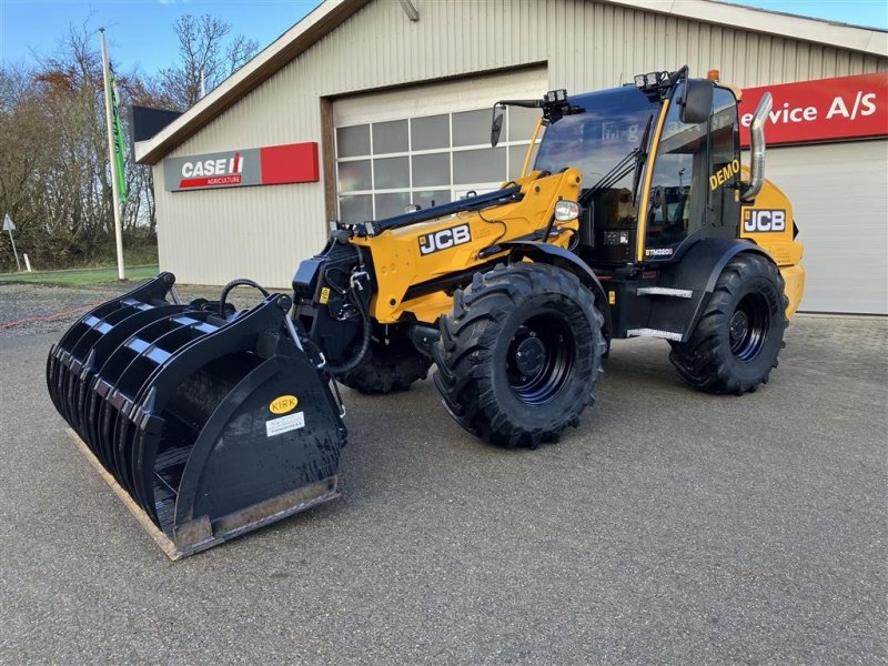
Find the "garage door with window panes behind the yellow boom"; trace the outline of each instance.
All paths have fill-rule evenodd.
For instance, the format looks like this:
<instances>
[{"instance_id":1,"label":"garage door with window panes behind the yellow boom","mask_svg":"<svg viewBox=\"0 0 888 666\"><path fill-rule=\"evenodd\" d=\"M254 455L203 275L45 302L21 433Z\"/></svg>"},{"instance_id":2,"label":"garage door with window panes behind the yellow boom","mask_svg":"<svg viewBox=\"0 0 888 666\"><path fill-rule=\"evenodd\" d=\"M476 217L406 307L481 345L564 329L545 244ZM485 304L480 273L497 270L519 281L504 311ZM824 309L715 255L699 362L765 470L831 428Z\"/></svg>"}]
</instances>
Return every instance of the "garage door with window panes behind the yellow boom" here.
<instances>
[{"instance_id":1,"label":"garage door with window panes behind the yellow boom","mask_svg":"<svg viewBox=\"0 0 888 666\"><path fill-rule=\"evenodd\" d=\"M547 83L546 70L536 68L337 100L340 220L379 220L517 178L539 111L509 107L491 148L491 108L541 98Z\"/></svg>"}]
</instances>

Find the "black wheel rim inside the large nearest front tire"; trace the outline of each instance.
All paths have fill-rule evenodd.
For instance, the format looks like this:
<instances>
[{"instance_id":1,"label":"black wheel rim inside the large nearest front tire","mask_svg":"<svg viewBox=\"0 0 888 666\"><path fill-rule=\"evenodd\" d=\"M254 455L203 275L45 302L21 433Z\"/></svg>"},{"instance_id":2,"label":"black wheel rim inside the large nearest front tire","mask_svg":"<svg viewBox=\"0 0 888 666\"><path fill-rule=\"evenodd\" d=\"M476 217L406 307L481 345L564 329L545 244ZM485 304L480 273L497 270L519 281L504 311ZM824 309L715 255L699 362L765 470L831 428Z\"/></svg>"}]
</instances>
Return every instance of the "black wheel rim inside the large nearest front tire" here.
<instances>
[{"instance_id":1,"label":"black wheel rim inside the large nearest front tire","mask_svg":"<svg viewBox=\"0 0 888 666\"><path fill-rule=\"evenodd\" d=\"M574 370L574 336L559 313L538 314L515 331L506 352L508 385L528 406L555 398Z\"/></svg>"}]
</instances>

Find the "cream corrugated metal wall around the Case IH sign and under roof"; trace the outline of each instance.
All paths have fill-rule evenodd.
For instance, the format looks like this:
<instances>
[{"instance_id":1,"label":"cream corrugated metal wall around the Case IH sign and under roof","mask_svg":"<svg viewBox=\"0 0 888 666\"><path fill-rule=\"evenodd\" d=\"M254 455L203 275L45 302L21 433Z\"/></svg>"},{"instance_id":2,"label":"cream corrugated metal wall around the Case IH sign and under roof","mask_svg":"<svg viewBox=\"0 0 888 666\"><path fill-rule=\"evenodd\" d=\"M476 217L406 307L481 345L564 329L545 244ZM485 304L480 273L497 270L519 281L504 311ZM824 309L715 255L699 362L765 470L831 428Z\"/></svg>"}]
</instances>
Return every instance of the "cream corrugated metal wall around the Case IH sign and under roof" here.
<instances>
[{"instance_id":1,"label":"cream corrugated metal wall around the Case IH sign and under roof","mask_svg":"<svg viewBox=\"0 0 888 666\"><path fill-rule=\"evenodd\" d=\"M370 2L170 157L320 143L321 97L531 63L547 63L549 88L569 91L684 63L698 74L718 69L739 87L888 70L884 58L591 0L414 4L421 18L412 23L396 0ZM170 193L160 164L154 182L161 268L180 282L245 275L286 286L296 263L323 245L322 183Z\"/></svg>"}]
</instances>

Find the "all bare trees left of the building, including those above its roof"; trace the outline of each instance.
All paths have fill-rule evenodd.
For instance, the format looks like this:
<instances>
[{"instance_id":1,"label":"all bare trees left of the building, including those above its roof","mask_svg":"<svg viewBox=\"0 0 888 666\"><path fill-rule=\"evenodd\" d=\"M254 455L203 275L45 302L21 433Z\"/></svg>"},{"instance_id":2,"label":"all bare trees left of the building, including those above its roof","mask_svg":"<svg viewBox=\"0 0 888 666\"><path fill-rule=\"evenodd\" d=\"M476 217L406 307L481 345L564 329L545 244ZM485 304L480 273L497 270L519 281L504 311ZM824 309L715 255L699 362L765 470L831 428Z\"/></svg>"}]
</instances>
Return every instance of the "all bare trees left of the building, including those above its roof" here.
<instances>
[{"instance_id":1,"label":"all bare trees left of the building, including those above its roof","mask_svg":"<svg viewBox=\"0 0 888 666\"><path fill-rule=\"evenodd\" d=\"M173 26L180 62L158 75L117 70L123 107L184 110L200 98L201 72L211 90L256 51L211 16L184 16ZM71 27L57 52L29 67L0 64L0 219L16 222L16 241L41 268L113 258L111 163L104 121L104 79L97 33ZM128 114L122 114L124 124ZM127 147L124 246L155 243L151 168ZM0 270L14 268L0 234Z\"/></svg>"}]
</instances>

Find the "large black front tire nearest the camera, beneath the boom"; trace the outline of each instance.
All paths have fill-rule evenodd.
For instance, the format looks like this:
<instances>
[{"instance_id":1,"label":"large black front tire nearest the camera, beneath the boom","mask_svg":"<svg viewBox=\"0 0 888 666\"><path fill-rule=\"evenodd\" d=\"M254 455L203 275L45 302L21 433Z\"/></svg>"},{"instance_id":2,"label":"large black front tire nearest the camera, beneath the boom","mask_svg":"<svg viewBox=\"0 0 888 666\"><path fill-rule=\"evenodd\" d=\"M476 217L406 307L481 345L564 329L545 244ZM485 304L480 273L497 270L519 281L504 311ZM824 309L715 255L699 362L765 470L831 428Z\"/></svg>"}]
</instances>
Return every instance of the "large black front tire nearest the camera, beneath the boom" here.
<instances>
[{"instance_id":1,"label":"large black front tire nearest the camera, beneath the boom","mask_svg":"<svg viewBox=\"0 0 888 666\"><path fill-rule=\"evenodd\" d=\"M604 319L562 269L498 265L454 295L433 349L435 385L468 432L502 446L556 442L594 402Z\"/></svg>"}]
</instances>

